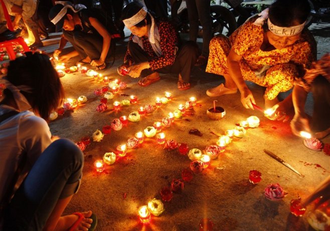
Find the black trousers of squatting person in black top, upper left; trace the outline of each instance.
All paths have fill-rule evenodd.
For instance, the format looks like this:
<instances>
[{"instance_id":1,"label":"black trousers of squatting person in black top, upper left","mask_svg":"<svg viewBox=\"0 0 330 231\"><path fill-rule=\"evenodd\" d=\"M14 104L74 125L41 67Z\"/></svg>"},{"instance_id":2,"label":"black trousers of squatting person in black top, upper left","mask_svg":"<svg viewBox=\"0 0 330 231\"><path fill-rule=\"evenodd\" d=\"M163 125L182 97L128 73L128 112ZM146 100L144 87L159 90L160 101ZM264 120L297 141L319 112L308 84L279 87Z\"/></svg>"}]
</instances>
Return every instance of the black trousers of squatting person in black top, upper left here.
<instances>
[{"instance_id":1,"label":"black trousers of squatting person in black top, upper left","mask_svg":"<svg viewBox=\"0 0 330 231\"><path fill-rule=\"evenodd\" d=\"M89 34L79 30L63 30L63 35L66 40L72 44L74 49L76 49L82 59L87 56L91 58L91 60L100 58L103 47L103 38L99 34ZM109 53L110 51L108 52L108 55Z\"/></svg>"}]
</instances>

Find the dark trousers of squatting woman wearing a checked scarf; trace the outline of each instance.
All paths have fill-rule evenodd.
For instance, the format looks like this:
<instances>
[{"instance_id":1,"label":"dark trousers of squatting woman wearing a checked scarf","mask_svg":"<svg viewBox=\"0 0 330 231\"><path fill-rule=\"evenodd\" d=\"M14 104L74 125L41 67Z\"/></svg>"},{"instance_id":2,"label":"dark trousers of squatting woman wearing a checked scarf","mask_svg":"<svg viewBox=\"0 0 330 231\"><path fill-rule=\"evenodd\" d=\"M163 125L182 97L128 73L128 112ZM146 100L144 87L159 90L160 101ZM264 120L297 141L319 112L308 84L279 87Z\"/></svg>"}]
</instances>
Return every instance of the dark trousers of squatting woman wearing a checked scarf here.
<instances>
[{"instance_id":1,"label":"dark trousers of squatting woman wearing a checked scarf","mask_svg":"<svg viewBox=\"0 0 330 231\"><path fill-rule=\"evenodd\" d=\"M128 42L128 50L130 55L133 58L134 63L141 63L145 61L151 61L153 57L149 56L142 48L133 41ZM140 77L148 76L154 72L168 74L181 74L183 81L189 82L191 70L194 64L196 63L198 57L198 47L197 44L193 41L189 41L186 44L182 45L174 60L174 63L170 66L162 67L157 70L144 69L141 72Z\"/></svg>"}]
</instances>

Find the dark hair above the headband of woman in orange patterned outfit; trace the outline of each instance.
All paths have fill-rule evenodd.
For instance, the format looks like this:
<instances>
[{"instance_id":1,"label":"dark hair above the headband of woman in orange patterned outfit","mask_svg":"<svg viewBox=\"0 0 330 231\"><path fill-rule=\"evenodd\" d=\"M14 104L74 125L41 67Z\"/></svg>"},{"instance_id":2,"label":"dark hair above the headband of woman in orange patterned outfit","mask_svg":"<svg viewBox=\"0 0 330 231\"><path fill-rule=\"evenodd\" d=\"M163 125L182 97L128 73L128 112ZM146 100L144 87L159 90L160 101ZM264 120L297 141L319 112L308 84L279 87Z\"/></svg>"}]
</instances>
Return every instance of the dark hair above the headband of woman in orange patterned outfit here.
<instances>
[{"instance_id":1,"label":"dark hair above the headband of woman in orange patterned outfit","mask_svg":"<svg viewBox=\"0 0 330 231\"><path fill-rule=\"evenodd\" d=\"M294 22L302 24L307 20L310 6L307 0L277 0L270 5L269 20L279 27L294 26Z\"/></svg>"}]
</instances>

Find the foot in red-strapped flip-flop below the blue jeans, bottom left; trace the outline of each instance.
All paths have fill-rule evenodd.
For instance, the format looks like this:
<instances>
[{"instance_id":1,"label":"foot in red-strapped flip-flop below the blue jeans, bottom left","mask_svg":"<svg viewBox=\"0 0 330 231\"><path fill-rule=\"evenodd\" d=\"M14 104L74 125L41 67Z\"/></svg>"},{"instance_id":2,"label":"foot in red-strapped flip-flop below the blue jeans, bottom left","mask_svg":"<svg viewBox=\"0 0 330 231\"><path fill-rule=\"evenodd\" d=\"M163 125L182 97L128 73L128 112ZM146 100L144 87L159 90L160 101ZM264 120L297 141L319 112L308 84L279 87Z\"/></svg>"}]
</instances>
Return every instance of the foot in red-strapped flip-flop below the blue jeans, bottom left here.
<instances>
[{"instance_id":1,"label":"foot in red-strapped flip-flop below the blue jeans, bottom left","mask_svg":"<svg viewBox=\"0 0 330 231\"><path fill-rule=\"evenodd\" d=\"M84 216L84 218L80 221L79 225L75 230L88 230L88 228L91 226L91 223L93 222L92 219L89 217L92 215L92 211L87 212L81 212L81 214ZM79 219L79 216L77 214L70 214L66 216L61 216L55 231L64 231L69 230L70 227Z\"/></svg>"}]
</instances>

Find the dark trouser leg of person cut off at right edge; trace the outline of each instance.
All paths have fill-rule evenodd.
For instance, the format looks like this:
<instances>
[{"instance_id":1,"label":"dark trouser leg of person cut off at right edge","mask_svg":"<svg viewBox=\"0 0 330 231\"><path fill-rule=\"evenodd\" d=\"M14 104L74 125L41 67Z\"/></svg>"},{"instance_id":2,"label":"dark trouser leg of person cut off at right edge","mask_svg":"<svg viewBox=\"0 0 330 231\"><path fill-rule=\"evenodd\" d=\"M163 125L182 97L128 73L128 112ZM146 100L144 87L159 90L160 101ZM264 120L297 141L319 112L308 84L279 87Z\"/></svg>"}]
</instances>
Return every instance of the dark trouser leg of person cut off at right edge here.
<instances>
[{"instance_id":1,"label":"dark trouser leg of person cut off at right edge","mask_svg":"<svg viewBox=\"0 0 330 231\"><path fill-rule=\"evenodd\" d=\"M330 128L330 82L322 75L317 76L311 84L314 99L311 129L321 132Z\"/></svg>"}]
</instances>

